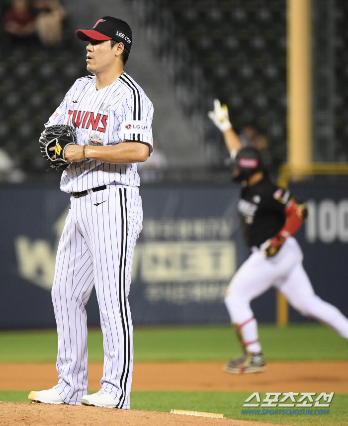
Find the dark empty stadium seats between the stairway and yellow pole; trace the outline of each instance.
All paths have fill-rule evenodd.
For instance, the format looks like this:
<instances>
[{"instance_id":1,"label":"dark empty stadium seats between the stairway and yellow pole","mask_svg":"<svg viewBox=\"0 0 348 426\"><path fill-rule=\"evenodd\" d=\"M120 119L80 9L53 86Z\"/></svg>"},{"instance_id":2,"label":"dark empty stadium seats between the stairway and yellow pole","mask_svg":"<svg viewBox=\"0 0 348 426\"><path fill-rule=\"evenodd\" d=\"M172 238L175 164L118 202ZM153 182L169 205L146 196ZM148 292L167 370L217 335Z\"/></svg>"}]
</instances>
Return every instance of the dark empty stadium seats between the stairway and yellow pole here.
<instances>
[{"instance_id":1,"label":"dark empty stadium seats between the stairway and yellow pole","mask_svg":"<svg viewBox=\"0 0 348 426\"><path fill-rule=\"evenodd\" d=\"M180 96L186 94L180 98L185 111L198 110L206 117L212 107L211 99L220 98L233 110L237 130L250 121L259 121L274 153L285 155L285 1L133 2L143 4L146 23L157 28L157 53L167 57L175 55L174 82L180 86ZM199 84L205 87L204 91L197 91L192 85L193 68L201 69L201 77L196 78L194 84L202 79ZM198 92L198 95L191 96L189 102L187 93L190 92ZM269 112L273 115L269 116ZM205 138L216 139L210 123L205 126ZM222 159L224 155L225 147L221 143Z\"/></svg>"}]
</instances>

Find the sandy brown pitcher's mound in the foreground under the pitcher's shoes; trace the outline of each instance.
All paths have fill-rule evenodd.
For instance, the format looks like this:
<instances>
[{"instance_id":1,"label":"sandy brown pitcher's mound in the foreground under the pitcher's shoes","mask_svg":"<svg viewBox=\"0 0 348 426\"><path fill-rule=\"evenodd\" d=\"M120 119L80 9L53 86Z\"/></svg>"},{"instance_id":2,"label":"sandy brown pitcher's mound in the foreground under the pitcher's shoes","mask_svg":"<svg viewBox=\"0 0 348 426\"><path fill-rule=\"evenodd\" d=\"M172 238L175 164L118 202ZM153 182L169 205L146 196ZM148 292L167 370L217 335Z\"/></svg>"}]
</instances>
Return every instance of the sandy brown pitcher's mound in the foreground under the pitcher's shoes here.
<instances>
[{"instance_id":1,"label":"sandy brown pitcher's mound in the foreground under the pitcher's shoes","mask_svg":"<svg viewBox=\"0 0 348 426\"><path fill-rule=\"evenodd\" d=\"M138 410L0 402L1 426L267 426L269 423L210 419ZM279 426L279 425L278 425Z\"/></svg>"}]
</instances>

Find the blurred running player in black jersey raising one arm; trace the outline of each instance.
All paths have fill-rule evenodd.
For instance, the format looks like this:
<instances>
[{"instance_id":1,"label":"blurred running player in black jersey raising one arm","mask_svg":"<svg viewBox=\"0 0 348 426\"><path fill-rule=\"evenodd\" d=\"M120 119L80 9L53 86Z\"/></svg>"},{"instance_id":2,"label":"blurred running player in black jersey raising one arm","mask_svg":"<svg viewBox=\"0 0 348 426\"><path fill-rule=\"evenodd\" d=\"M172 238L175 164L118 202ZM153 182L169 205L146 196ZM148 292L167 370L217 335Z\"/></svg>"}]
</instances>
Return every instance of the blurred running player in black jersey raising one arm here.
<instances>
[{"instance_id":1,"label":"blurred running player in black jersey raising one arm","mask_svg":"<svg viewBox=\"0 0 348 426\"><path fill-rule=\"evenodd\" d=\"M233 180L243 185L238 210L251 251L226 291L225 304L244 352L229 361L225 371L240 374L265 370L250 302L272 286L302 315L325 322L348 339L348 319L315 294L302 266L301 248L292 237L307 216L306 206L289 190L272 182L256 148L242 147L232 129L226 105L221 106L215 100L214 111L208 116L223 133L234 159Z\"/></svg>"}]
</instances>

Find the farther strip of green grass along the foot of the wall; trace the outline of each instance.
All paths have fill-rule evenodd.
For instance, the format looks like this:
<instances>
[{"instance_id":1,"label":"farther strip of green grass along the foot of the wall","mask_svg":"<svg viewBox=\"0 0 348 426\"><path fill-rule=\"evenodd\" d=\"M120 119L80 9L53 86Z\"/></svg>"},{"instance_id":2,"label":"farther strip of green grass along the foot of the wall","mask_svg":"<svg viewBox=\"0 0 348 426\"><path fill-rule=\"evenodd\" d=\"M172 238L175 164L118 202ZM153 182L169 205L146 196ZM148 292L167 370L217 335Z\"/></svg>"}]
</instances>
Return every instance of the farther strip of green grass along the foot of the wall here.
<instances>
[{"instance_id":1,"label":"farther strip of green grass along the foot of the wall","mask_svg":"<svg viewBox=\"0 0 348 426\"><path fill-rule=\"evenodd\" d=\"M320 324L260 326L262 350L267 360L348 359L347 341ZM138 328L134 331L135 361L222 361L240 353L230 326ZM57 333L1 331L0 362L55 361ZM88 332L90 361L102 361L102 335Z\"/></svg>"}]
</instances>

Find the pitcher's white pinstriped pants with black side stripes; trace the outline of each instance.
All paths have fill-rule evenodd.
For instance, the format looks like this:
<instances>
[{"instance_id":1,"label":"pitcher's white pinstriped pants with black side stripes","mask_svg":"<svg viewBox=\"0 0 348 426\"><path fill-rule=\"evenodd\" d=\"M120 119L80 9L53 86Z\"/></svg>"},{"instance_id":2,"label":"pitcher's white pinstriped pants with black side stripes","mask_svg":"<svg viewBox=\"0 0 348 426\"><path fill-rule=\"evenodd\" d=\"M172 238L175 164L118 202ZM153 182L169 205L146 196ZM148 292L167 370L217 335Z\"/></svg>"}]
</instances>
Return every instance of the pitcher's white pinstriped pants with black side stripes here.
<instances>
[{"instance_id":1,"label":"pitcher's white pinstriped pants with black side stripes","mask_svg":"<svg viewBox=\"0 0 348 426\"><path fill-rule=\"evenodd\" d=\"M142 220L138 188L111 187L71 198L52 287L58 331L55 389L68 404L81 405L88 394L85 305L94 285L104 346L101 387L118 408L130 408L133 326L128 294Z\"/></svg>"}]
</instances>

